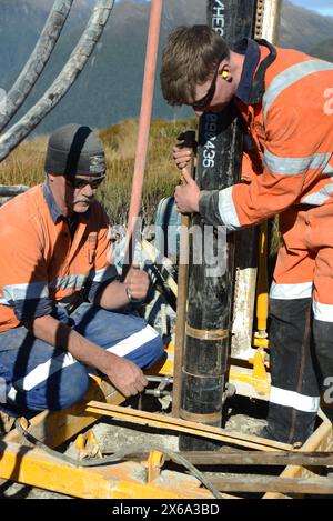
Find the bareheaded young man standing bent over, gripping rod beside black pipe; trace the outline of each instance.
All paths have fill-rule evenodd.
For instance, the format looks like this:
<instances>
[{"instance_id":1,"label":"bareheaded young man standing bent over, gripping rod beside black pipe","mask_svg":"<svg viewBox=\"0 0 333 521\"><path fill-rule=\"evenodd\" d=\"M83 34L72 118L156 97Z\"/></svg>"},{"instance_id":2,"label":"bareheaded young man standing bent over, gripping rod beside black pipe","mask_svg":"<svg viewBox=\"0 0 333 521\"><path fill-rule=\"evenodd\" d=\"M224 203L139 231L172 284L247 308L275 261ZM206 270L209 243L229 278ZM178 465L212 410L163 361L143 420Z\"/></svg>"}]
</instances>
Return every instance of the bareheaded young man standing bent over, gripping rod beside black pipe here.
<instances>
[{"instance_id":1,"label":"bareheaded young man standing bent over, gripping rod beside black pipe","mask_svg":"<svg viewBox=\"0 0 333 521\"><path fill-rule=\"evenodd\" d=\"M271 287L271 398L264 435L304 442L323 393L333 417L333 63L264 40L234 50L206 26L180 27L163 52L170 104L198 116L234 103L244 130L242 182L206 191L186 173L179 211L229 231L280 214ZM330 94L331 93L331 94ZM185 169L192 151L176 147Z\"/></svg>"}]
</instances>

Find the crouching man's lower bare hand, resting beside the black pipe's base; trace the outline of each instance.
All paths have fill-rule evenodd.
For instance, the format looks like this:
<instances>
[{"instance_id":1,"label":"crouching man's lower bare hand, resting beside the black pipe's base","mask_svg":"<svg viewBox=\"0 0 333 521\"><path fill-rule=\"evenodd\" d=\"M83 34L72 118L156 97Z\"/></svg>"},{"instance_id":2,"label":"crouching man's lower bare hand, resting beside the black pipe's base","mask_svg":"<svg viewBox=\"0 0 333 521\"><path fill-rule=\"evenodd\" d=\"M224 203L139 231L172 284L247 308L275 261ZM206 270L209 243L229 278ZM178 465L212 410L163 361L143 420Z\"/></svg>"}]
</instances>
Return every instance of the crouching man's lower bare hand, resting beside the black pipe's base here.
<instances>
[{"instance_id":1,"label":"crouching man's lower bare hand, resting beside the black pipe's base","mask_svg":"<svg viewBox=\"0 0 333 521\"><path fill-rule=\"evenodd\" d=\"M108 354L107 367L102 371L107 374L112 385L114 385L125 398L134 397L142 392L148 380L141 369L135 363L113 353Z\"/></svg>"}]
</instances>

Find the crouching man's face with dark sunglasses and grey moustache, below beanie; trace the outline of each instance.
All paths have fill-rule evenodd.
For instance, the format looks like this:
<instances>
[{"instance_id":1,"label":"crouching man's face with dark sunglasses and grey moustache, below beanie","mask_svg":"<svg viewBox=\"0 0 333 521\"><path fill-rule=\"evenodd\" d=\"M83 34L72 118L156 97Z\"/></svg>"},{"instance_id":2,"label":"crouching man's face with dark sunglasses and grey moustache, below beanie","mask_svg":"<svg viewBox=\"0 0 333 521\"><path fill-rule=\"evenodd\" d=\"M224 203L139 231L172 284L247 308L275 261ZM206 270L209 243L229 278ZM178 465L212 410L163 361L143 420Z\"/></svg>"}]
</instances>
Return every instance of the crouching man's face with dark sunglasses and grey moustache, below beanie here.
<instances>
[{"instance_id":1,"label":"crouching man's face with dark sunglasses and grey moustache, below beanie","mask_svg":"<svg viewBox=\"0 0 333 521\"><path fill-rule=\"evenodd\" d=\"M95 198L98 187L105 176L73 177L50 176L52 192L59 208L64 213L84 213Z\"/></svg>"}]
</instances>

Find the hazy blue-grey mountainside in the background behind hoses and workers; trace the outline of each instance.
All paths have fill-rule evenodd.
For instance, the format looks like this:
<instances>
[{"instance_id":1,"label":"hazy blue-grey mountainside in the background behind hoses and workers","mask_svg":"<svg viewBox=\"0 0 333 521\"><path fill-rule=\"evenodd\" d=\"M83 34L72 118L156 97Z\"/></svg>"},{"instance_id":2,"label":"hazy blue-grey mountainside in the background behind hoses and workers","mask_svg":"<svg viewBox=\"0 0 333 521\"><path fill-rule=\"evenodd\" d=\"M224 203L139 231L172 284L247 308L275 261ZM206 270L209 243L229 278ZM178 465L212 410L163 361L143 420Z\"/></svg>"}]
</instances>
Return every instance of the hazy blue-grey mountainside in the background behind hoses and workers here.
<instances>
[{"instance_id":1,"label":"hazy blue-grey mountainside in the background behind hoses and workers","mask_svg":"<svg viewBox=\"0 0 333 521\"><path fill-rule=\"evenodd\" d=\"M21 116L57 78L80 38L97 0L75 0L72 13L41 79ZM0 87L9 89L30 56L54 0L0 0ZM161 46L168 33L182 23L205 22L205 0L167 0L161 27ZM117 1L104 34L78 81L59 106L38 127L49 132L70 121L103 128L140 113L149 2ZM303 51L315 50L326 58L333 34L333 19L284 1L280 42ZM160 51L161 52L161 51ZM330 54L331 56L331 54ZM331 58L329 58L331 59ZM333 60L333 58L332 58ZM154 118L182 118L189 109L170 108L162 99L159 80Z\"/></svg>"}]
</instances>

